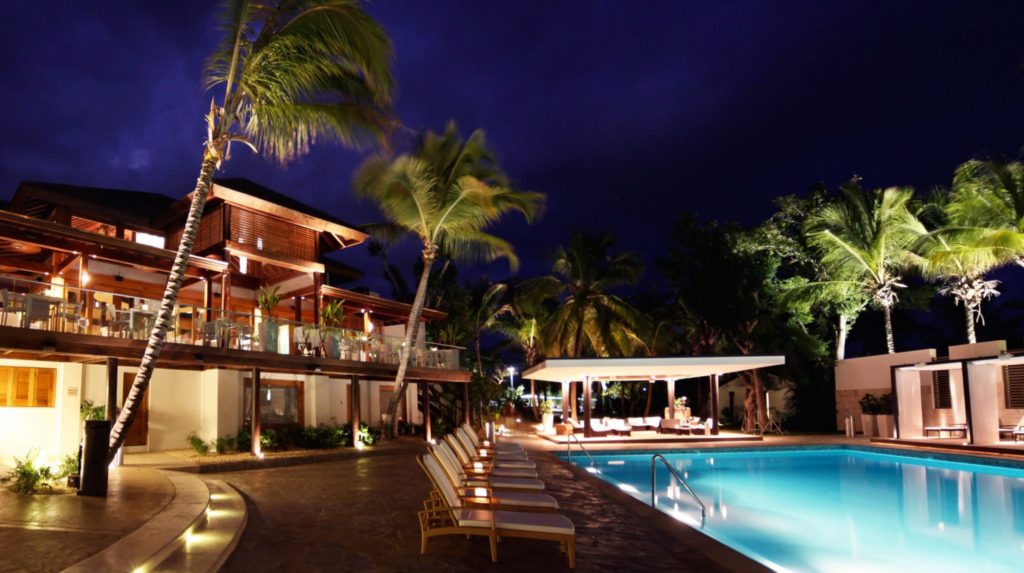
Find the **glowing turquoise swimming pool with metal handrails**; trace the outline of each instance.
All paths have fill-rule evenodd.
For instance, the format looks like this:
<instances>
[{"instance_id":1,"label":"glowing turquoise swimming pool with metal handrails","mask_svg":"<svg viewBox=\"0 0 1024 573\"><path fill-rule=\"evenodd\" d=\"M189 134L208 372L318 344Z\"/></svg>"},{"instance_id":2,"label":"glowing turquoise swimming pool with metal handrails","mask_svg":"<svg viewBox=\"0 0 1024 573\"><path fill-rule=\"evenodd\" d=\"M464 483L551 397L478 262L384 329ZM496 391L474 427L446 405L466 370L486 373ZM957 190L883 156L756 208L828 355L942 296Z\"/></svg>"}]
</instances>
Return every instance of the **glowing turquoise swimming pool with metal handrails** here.
<instances>
[{"instance_id":1,"label":"glowing turquoise swimming pool with metal handrails","mask_svg":"<svg viewBox=\"0 0 1024 573\"><path fill-rule=\"evenodd\" d=\"M653 453L595 454L590 471L650 503ZM707 521L660 462L657 508L776 571L1024 571L1024 465L860 446L665 456Z\"/></svg>"}]
</instances>

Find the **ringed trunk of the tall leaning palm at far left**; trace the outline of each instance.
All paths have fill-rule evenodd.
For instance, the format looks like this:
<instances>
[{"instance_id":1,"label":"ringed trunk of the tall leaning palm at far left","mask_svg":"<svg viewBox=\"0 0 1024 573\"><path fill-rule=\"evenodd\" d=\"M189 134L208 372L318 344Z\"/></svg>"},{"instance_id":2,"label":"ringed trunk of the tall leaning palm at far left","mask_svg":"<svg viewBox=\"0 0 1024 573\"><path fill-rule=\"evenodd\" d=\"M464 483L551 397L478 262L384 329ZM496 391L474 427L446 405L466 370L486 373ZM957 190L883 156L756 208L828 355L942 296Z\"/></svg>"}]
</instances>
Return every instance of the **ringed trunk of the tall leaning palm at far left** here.
<instances>
[{"instance_id":1,"label":"ringed trunk of the tall leaning palm at far left","mask_svg":"<svg viewBox=\"0 0 1024 573\"><path fill-rule=\"evenodd\" d=\"M136 407L145 396L146 389L150 388L150 381L153 379L154 369L157 367L157 359L160 358L160 351L167 341L167 329L170 327L174 306L178 302L178 292L181 290L181 281L184 280L185 270L188 268L188 257L191 256L193 246L196 244L196 231L199 230L200 220L203 218L203 209L206 207L206 195L210 191L213 183L213 174L217 171L217 159L207 153L203 159L203 166L199 172L199 179L196 181L196 188L193 189L191 205L188 208L188 217L185 219L185 228L181 234L181 241L178 244L178 252L174 255L174 264L171 265L171 272L167 275L167 285L164 288L164 298L160 302L160 312L154 322L153 330L150 332L150 340L145 345L145 352L142 354L142 361L139 363L138 371L135 372L135 380L132 381L131 390L125 397L124 406L118 414L117 422L111 428L110 451L106 454L108 462L114 460L121 445L124 444L125 434L138 411Z\"/></svg>"}]
</instances>

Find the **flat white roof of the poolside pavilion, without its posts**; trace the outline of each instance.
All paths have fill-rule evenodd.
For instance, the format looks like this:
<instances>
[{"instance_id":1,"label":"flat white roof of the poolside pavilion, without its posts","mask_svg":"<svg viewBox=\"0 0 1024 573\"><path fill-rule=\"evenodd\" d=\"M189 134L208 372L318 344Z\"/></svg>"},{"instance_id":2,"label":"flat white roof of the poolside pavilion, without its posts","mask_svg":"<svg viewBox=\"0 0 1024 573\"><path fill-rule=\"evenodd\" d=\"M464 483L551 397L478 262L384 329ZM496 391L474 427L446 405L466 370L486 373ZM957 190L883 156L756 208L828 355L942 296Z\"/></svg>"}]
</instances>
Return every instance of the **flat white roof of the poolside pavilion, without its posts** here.
<instances>
[{"instance_id":1,"label":"flat white roof of the poolside pavilion, without its posts","mask_svg":"<svg viewBox=\"0 0 1024 573\"><path fill-rule=\"evenodd\" d=\"M679 380L780 366L785 356L671 356L658 358L552 358L522 373L524 380Z\"/></svg>"}]
</instances>

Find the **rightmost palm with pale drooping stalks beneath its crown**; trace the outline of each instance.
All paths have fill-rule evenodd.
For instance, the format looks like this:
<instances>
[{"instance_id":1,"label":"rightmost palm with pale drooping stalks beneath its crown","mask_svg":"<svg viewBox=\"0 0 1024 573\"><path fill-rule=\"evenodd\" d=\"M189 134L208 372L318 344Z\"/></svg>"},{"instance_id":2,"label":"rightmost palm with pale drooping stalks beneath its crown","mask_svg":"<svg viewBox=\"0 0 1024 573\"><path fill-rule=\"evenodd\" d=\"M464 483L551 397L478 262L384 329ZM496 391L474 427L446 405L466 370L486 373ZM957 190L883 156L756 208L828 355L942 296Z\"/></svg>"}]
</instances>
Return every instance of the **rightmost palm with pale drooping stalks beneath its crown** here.
<instances>
[{"instance_id":1,"label":"rightmost palm with pale drooping stalks beneath its crown","mask_svg":"<svg viewBox=\"0 0 1024 573\"><path fill-rule=\"evenodd\" d=\"M982 303L999 296L999 281L986 279L985 275L1014 260L1020 261L1019 254L1024 253L1022 233L988 226L990 204L979 201L980 192L986 191L970 185L951 194L941 190L935 193L923 212L935 219L938 228L922 235L914 246L922 275L941 280L939 294L964 305L971 344L978 342L975 322L985 323Z\"/></svg>"}]
</instances>

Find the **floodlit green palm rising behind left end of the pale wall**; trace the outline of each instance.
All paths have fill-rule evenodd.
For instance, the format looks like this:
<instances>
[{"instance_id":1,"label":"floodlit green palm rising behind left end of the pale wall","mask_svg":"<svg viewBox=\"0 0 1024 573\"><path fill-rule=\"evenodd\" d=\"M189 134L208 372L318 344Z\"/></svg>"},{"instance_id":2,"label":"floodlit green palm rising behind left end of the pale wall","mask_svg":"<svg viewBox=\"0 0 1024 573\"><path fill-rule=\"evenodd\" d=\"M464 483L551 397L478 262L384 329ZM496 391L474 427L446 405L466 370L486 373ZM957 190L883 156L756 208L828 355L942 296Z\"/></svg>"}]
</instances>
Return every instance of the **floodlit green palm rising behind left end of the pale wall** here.
<instances>
[{"instance_id":1,"label":"floodlit green palm rising behind left end of the pale wall","mask_svg":"<svg viewBox=\"0 0 1024 573\"><path fill-rule=\"evenodd\" d=\"M821 255L830 281L856 288L885 313L886 347L896 352L892 309L905 288L900 272L909 261L908 249L924 225L908 205L909 188L890 187L866 192L855 178L842 187L842 196L808 217L808 243Z\"/></svg>"}]
</instances>

